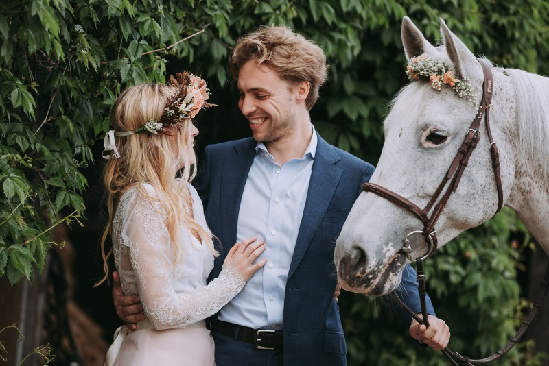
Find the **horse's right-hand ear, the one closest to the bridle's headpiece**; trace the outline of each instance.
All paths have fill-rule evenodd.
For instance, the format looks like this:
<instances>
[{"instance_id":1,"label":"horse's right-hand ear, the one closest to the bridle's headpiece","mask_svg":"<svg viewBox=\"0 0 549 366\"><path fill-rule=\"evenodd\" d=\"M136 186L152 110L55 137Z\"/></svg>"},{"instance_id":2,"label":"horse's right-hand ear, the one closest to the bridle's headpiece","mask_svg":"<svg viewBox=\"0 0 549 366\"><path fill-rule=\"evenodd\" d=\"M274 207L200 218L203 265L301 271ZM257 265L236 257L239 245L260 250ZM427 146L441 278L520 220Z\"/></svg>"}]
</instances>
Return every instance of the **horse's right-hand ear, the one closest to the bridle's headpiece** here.
<instances>
[{"instance_id":1,"label":"horse's right-hand ear, the one closest to the bridle's headpiece","mask_svg":"<svg viewBox=\"0 0 549 366\"><path fill-rule=\"evenodd\" d=\"M482 78L482 69L474 54L469 51L465 43L452 33L442 18L440 22L446 52L450 61L454 64L456 73L460 77Z\"/></svg>"}]
</instances>

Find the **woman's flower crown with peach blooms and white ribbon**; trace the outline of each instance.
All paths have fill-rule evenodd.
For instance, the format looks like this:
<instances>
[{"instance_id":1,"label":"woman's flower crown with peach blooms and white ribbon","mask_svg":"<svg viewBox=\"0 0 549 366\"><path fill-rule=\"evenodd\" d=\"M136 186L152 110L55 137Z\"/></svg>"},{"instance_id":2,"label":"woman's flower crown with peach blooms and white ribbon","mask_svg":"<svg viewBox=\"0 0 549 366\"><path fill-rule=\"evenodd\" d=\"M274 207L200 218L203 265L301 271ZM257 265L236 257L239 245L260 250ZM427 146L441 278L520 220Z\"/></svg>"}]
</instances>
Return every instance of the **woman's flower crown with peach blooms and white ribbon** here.
<instances>
[{"instance_id":1,"label":"woman's flower crown with peach blooms and white ribbon","mask_svg":"<svg viewBox=\"0 0 549 366\"><path fill-rule=\"evenodd\" d=\"M178 123L187 119L193 119L201 109L217 106L217 104L207 103L211 93L209 88L206 87L205 80L188 71L176 73L175 77L170 75L170 85L176 87L176 90L168 98L167 106L161 117L150 119L137 130L108 131L103 139L105 147L102 153L103 158L120 157L115 144L115 136L126 137L143 132L150 134L165 132L167 127L178 125Z\"/></svg>"}]
</instances>

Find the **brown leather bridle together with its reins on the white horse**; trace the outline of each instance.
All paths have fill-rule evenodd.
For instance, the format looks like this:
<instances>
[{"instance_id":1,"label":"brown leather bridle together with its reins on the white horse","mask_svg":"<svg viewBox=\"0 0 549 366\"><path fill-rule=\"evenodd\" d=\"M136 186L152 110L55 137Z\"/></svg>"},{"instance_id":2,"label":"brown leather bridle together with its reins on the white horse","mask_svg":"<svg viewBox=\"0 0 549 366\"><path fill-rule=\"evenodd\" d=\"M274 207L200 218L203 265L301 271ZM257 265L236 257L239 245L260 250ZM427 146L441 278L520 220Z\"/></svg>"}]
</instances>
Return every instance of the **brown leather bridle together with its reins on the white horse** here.
<instances>
[{"instance_id":1,"label":"brown leather bridle together with its reins on the white horse","mask_svg":"<svg viewBox=\"0 0 549 366\"><path fill-rule=\"evenodd\" d=\"M438 247L438 239L436 237L436 230L435 225L436 222L439 220L439 217L441 216L444 208L446 207L446 204L448 202L449 197L452 195L452 193L456 192L456 189L458 188L458 185L460 183L461 177L463 175L463 171L465 171L465 168L467 167L467 164L469 162L469 158L471 157L471 154L473 154L474 149L476 148L478 141L480 141L480 123L482 122L482 117L484 118L485 125L486 125L486 134L488 137L488 141L490 143L490 153L491 153L491 159L492 159L492 167L494 171L494 178L495 178L495 188L498 191L498 208L495 210L495 213L500 212L500 210L503 207L503 188L502 188L502 182L501 182L501 175L500 175L500 154L498 152L498 146L496 145L495 141L493 141L491 130L490 130L490 107L491 107L491 100L492 100L492 92L493 92L493 78L492 78L492 72L490 69L490 65L486 60L477 59L480 65L482 66L482 72L484 74L484 83L483 83L483 90L482 90L482 100L480 103L480 107L478 108L478 112L476 114L475 119L473 120L473 123L471 123L471 126L469 127L469 130L467 130L467 134L465 134L465 139L461 146L458 149L458 152L456 154L456 157L454 160L452 160L452 163L450 164L450 167L443 177L441 183L439 184L439 187L436 188L436 191L434 192L433 196L431 197L430 201L428 202L427 206L423 208L419 208L416 204L413 202L410 202L410 200L402 197L398 193L395 193L393 191L390 191L387 188L384 188L383 186L379 186L379 184L375 183L364 183L362 184L362 191L364 192L371 192L375 193L376 195L379 195L380 197L383 197L385 199L388 199L390 202L393 202L393 204L396 204L397 206L400 206L401 208L404 208L405 210L408 210L412 213L412 215L416 216L421 222L423 223L423 230L417 230L412 231L408 235L406 235L406 239L404 239L404 247L400 249L400 252L406 254L408 257L408 260L410 262L416 262L417 263L417 281L418 281L418 292L419 292L419 298L421 302L421 315L423 319L418 317L414 311L404 302L402 302L399 297L393 292L390 293L390 296L393 297L393 300L399 304L404 310L406 310L412 317L419 323L419 324L425 324L425 326L429 326L428 322L428 314L427 314L427 307L425 306L425 273L423 271L423 260L431 256L436 252L436 249ZM449 182L449 183L448 183ZM448 184L446 191L443 193L445 186ZM441 197L442 195L442 197ZM439 200L439 197L441 199ZM437 203L437 200L439 202ZM429 217L430 210L433 209L431 216ZM428 245L428 250L423 256L418 258L412 258L412 246L410 244L410 240L408 238L412 236L413 234L421 234L425 237L425 241ZM452 365L458 365L454 358L458 361L461 361L465 363L465 365L482 365L486 363L490 363L491 361L495 361L498 358L504 356L513 346L519 341L519 339L524 335L524 332L526 332L526 329L530 325L531 321L534 319L534 317L537 315L537 312L539 308L541 307L541 304L543 303L544 297L547 293L548 287L549 287L549 264L546 270L546 276L541 282L541 289L539 290L539 293L536 297L536 300L530 309L526 320L522 323L522 326L519 328L517 333L513 338L511 338L511 341L505 345L501 350L498 352L495 352L495 354L487 357L482 358L478 360L471 360L468 357L461 356L458 354L458 352L454 352L452 350L449 350L448 348L445 348L441 352L448 358L450 363Z\"/></svg>"}]
</instances>

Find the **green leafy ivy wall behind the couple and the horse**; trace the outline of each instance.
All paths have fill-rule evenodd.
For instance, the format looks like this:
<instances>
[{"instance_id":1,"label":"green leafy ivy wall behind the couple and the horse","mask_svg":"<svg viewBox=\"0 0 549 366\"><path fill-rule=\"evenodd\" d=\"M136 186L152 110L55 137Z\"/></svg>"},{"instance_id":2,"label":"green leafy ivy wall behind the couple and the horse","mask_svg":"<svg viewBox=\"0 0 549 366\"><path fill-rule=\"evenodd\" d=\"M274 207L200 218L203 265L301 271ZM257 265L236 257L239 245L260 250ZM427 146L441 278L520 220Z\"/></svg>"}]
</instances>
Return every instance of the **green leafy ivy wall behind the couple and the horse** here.
<instances>
[{"instance_id":1,"label":"green leafy ivy wall behind the couple and the horse","mask_svg":"<svg viewBox=\"0 0 549 366\"><path fill-rule=\"evenodd\" d=\"M84 223L86 164L108 130L124 88L189 69L209 80L220 108L200 116L204 144L248 136L226 58L238 36L284 24L318 43L329 83L312 110L334 145L374 164L388 102L407 82L403 16L432 42L439 17L495 64L548 74L549 3L543 0L7 0L0 3L0 276L11 283L43 269L50 230ZM95 182L94 182L95 183ZM100 228L97 228L99 231ZM428 291L471 357L507 342L528 305L517 274L530 241L504 210L428 260ZM515 243L511 245L511 243ZM384 299L344 293L349 365L446 365L397 324ZM524 343L494 365L539 365Z\"/></svg>"}]
</instances>

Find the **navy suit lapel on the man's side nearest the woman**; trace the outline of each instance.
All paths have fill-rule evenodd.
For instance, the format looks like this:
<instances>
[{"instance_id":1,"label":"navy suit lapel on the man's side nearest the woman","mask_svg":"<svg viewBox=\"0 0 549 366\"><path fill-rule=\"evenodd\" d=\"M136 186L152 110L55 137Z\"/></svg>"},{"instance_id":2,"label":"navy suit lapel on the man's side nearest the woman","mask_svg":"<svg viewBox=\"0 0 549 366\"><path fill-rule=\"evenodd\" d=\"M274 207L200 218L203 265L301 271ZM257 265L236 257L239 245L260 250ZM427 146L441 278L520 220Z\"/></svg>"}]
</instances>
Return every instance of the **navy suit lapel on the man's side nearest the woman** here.
<instances>
[{"instance_id":1,"label":"navy suit lapel on the man's side nearest the woman","mask_svg":"<svg viewBox=\"0 0 549 366\"><path fill-rule=\"evenodd\" d=\"M221 206L224 212L221 215L221 243L228 251L236 241L236 230L240 201L246 179L253 158L255 157L255 145L253 138L246 138L235 144L231 154L228 154L223 162L221 182Z\"/></svg>"}]
</instances>

